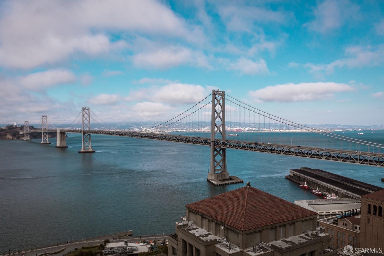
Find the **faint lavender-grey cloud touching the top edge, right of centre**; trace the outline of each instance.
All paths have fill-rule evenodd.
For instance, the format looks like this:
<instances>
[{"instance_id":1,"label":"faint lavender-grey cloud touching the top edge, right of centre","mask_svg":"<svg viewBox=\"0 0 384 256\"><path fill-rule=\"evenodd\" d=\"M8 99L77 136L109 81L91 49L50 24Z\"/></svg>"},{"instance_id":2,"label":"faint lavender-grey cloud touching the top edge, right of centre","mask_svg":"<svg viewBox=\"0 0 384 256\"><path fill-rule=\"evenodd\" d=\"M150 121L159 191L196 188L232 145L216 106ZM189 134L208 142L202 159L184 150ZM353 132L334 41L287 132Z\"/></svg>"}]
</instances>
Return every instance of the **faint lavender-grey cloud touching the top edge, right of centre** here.
<instances>
[{"instance_id":1,"label":"faint lavender-grey cloud touching the top edge, right of centre","mask_svg":"<svg viewBox=\"0 0 384 256\"><path fill-rule=\"evenodd\" d=\"M347 20L359 17L359 6L349 0L325 0L314 10L315 19L305 24L310 30L328 33L335 30Z\"/></svg>"}]
</instances>

